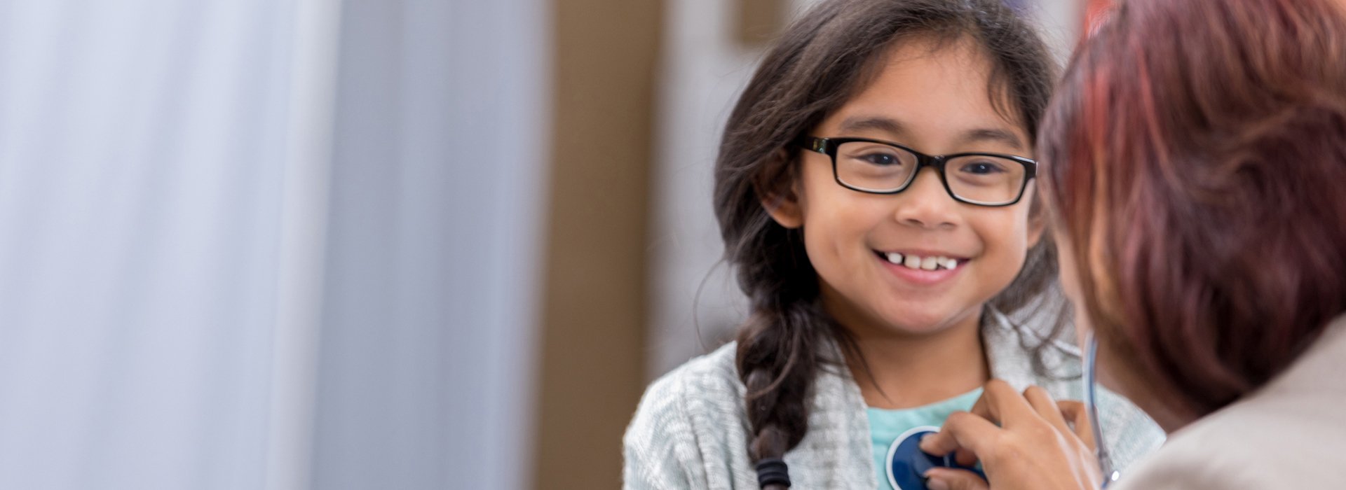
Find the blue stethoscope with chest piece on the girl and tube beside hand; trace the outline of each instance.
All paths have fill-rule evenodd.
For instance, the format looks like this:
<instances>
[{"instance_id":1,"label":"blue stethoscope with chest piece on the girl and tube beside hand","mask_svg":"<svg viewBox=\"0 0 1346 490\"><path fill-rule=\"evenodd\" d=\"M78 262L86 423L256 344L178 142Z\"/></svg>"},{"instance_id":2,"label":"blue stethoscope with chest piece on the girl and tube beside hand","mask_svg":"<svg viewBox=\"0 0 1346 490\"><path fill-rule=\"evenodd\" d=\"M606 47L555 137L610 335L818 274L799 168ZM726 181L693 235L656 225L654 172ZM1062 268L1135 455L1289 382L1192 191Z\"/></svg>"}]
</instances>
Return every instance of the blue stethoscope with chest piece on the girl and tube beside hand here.
<instances>
[{"instance_id":1,"label":"blue stethoscope with chest piece on the girl and tube beside hand","mask_svg":"<svg viewBox=\"0 0 1346 490\"><path fill-rule=\"evenodd\" d=\"M1093 334L1089 334L1085 338L1084 360L1085 416L1089 418L1089 426L1093 428L1094 443L1098 447L1094 451L1094 456L1098 458L1098 467L1104 474L1102 489L1106 489L1108 485L1116 482L1121 474L1113 470L1112 456L1108 454L1108 444L1105 444L1102 439L1102 428L1098 427L1097 362L1098 341L1093 338ZM886 469L888 474L888 485L892 485L894 490L926 490L925 477L922 475L925 475L925 473L931 467L937 466L968 470L976 473L983 479L987 478L987 474L977 467L958 464L953 459L953 454L941 458L931 456L925 451L921 451L921 438L938 431L938 427L931 426L915 427L902 432L902 435L892 440L892 446L888 446L888 456L884 458L884 460L888 462Z\"/></svg>"}]
</instances>

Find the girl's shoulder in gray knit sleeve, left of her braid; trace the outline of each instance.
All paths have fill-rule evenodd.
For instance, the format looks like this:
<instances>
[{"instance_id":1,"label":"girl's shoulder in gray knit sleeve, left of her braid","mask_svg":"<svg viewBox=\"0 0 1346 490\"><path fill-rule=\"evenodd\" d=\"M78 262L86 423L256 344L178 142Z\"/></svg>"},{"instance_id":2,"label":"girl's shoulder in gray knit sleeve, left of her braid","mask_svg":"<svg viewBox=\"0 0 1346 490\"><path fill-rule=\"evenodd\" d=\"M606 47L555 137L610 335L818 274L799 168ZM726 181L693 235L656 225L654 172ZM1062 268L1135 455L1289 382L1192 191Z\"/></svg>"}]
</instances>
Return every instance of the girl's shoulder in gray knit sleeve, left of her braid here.
<instances>
[{"instance_id":1,"label":"girl's shoulder in gray knit sleeve, left of her braid","mask_svg":"<svg viewBox=\"0 0 1346 490\"><path fill-rule=\"evenodd\" d=\"M742 442L743 388L735 344L693 358L650 384L626 427L623 489L711 489Z\"/></svg>"}]
</instances>

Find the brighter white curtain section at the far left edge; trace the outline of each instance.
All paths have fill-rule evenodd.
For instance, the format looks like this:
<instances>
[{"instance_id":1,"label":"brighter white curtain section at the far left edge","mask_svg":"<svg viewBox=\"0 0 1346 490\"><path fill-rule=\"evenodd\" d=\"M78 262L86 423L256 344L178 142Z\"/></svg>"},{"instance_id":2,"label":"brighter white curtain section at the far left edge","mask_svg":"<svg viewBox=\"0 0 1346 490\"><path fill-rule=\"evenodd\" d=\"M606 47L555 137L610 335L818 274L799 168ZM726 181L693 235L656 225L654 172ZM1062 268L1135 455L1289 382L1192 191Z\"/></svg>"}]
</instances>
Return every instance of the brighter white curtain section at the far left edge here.
<instances>
[{"instance_id":1,"label":"brighter white curtain section at the far left edge","mask_svg":"<svg viewBox=\"0 0 1346 490\"><path fill-rule=\"evenodd\" d=\"M0 12L0 487L262 487L293 5Z\"/></svg>"}]
</instances>

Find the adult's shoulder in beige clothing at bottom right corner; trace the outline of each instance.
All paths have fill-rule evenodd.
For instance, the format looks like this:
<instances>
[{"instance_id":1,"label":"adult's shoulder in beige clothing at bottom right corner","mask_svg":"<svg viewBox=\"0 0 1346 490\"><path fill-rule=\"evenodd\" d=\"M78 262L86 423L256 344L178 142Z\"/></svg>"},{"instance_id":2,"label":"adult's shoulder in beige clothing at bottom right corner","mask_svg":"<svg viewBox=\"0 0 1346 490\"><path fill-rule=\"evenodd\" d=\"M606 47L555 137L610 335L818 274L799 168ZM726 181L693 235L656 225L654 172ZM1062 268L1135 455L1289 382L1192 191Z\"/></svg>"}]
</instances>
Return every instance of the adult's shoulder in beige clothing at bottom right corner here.
<instances>
[{"instance_id":1,"label":"adult's shoulder in beige clothing at bottom right corner","mask_svg":"<svg viewBox=\"0 0 1346 490\"><path fill-rule=\"evenodd\" d=\"M1116 489L1341 489L1346 317L1252 395L1206 415Z\"/></svg>"}]
</instances>

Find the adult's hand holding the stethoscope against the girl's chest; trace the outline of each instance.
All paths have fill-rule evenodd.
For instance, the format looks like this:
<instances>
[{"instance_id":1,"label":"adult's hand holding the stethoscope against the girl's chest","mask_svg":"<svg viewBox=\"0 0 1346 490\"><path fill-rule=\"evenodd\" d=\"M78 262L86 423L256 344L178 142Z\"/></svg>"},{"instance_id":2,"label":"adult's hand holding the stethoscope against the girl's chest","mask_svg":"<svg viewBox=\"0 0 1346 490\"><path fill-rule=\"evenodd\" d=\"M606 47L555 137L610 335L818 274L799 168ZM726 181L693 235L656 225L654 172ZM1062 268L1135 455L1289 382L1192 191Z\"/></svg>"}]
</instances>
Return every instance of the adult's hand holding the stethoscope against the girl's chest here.
<instances>
[{"instance_id":1,"label":"adult's hand holding the stethoscope against the girl's chest","mask_svg":"<svg viewBox=\"0 0 1346 490\"><path fill-rule=\"evenodd\" d=\"M970 412L956 412L938 434L921 440L935 456L950 452L960 464L981 460L995 490L1093 490L1102 483L1093 431L1084 404L1055 401L1046 389L1020 395L991 380ZM952 469L926 473L933 490L988 489L977 475Z\"/></svg>"}]
</instances>

